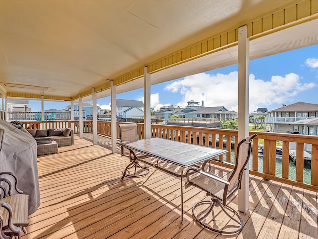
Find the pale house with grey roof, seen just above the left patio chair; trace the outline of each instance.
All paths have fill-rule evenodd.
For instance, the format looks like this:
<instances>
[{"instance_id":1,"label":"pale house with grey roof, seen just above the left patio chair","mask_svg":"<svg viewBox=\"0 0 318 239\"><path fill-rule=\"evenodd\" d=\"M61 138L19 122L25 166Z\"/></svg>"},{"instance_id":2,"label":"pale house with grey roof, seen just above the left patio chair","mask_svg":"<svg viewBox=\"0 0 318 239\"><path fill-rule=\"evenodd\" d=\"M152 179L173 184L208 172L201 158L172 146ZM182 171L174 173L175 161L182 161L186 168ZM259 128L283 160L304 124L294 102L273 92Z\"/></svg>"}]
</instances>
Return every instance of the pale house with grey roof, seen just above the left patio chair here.
<instances>
[{"instance_id":1,"label":"pale house with grey roof, seen just above the left patio chair","mask_svg":"<svg viewBox=\"0 0 318 239\"><path fill-rule=\"evenodd\" d=\"M132 117L144 116L144 103L136 100L116 99L117 120L124 119L128 122Z\"/></svg>"}]
</instances>

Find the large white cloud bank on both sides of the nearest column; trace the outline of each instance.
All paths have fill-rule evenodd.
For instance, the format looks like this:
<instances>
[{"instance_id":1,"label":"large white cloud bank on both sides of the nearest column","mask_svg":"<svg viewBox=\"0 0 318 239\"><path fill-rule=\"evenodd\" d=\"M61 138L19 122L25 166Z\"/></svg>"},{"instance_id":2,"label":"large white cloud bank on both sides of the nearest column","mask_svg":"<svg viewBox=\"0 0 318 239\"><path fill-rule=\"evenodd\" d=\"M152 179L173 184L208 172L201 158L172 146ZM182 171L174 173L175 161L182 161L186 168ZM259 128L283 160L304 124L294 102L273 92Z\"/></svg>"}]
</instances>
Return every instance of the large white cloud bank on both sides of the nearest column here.
<instances>
[{"instance_id":1,"label":"large white cloud bank on both sides of the nearest column","mask_svg":"<svg viewBox=\"0 0 318 239\"><path fill-rule=\"evenodd\" d=\"M315 83L301 84L299 76L290 73L285 76L272 76L270 81L255 79L250 74L249 111L258 105L284 104L299 92L315 87ZM205 106L225 106L238 111L238 72L228 75L200 73L168 84L165 90L180 92L183 95L177 105L186 106L187 101L204 101Z\"/></svg>"}]
</instances>

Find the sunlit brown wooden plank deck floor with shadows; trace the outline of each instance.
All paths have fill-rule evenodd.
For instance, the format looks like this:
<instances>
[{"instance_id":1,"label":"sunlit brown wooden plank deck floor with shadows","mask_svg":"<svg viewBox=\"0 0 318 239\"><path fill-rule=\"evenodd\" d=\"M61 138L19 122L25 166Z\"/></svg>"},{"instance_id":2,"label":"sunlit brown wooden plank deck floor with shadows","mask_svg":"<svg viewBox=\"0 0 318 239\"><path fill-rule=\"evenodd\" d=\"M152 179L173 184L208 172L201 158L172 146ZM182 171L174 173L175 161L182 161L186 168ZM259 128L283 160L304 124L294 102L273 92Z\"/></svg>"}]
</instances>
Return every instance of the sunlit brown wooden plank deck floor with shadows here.
<instances>
[{"instance_id":1,"label":"sunlit brown wooden plank deck floor with shadows","mask_svg":"<svg viewBox=\"0 0 318 239\"><path fill-rule=\"evenodd\" d=\"M38 157L41 205L23 239L318 238L315 192L253 176L240 234L219 235L195 223L192 206L206 196L193 187L184 193L182 225L179 179L151 168L147 176L121 181L129 160L111 154L109 139L98 140L93 145L75 136L73 146ZM238 197L231 205L238 208Z\"/></svg>"}]
</instances>

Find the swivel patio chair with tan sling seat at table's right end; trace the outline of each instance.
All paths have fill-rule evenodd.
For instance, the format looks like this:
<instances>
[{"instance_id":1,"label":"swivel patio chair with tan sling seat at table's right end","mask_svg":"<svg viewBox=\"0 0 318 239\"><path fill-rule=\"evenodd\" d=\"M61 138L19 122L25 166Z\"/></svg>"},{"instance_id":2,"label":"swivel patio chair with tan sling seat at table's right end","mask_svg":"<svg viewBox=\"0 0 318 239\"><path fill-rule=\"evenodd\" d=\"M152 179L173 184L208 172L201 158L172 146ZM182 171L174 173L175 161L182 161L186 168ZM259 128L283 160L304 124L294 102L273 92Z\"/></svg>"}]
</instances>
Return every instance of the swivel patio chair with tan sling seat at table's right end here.
<instances>
[{"instance_id":1,"label":"swivel patio chair with tan sling seat at table's right end","mask_svg":"<svg viewBox=\"0 0 318 239\"><path fill-rule=\"evenodd\" d=\"M233 234L242 230L244 225L242 217L239 215L239 212L230 207L227 202L241 187L242 174L250 157L251 142L256 136L257 134L253 134L239 142L235 164L231 164L234 166L234 169L229 175L227 175L227 177L221 178L210 172L204 172L202 170L192 168L187 171L187 182L185 184L185 188L193 185L207 192L208 196L211 196L211 200L199 201L194 204L192 208L193 217L203 227L223 234ZM211 161L219 160L212 159L210 162ZM227 162L222 163L230 164ZM228 217L228 219L222 218L222 220L228 220L227 222L231 222L231 230L226 230L227 227L219 228L219 226L216 225L217 217L219 215L215 214L213 209L218 206ZM212 219L208 218L210 214L212 214Z\"/></svg>"}]
</instances>

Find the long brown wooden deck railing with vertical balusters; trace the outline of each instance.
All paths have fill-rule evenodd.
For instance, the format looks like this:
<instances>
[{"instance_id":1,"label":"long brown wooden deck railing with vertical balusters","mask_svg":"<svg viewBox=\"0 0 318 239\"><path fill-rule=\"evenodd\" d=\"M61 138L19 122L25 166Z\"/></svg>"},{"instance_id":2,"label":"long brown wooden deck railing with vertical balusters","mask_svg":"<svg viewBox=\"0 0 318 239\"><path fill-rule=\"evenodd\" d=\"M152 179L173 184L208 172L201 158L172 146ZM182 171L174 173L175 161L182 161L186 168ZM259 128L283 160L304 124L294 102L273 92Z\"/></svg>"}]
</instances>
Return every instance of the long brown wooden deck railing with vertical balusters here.
<instances>
[{"instance_id":1,"label":"long brown wooden deck railing with vertical balusters","mask_svg":"<svg viewBox=\"0 0 318 239\"><path fill-rule=\"evenodd\" d=\"M83 123L84 132L92 132L92 121L85 120ZM120 123L122 122L117 122L116 135L118 139L120 138L118 127ZM71 128L73 125L74 132L79 133L79 121L23 122L23 124L25 128ZM144 124L137 123L137 127L139 139L143 139ZM97 133L111 137L111 122L97 121ZM253 133L255 132L250 132L250 135ZM318 136L271 132L256 133L257 137L252 143L254 150L249 163L251 175L318 192ZM234 162L235 149L239 142L237 130L162 124L151 124L151 137L226 149L229 153L220 156L219 159L228 162ZM222 139L223 143L219 143L221 141L219 139ZM263 146L262 158L259 157L258 153L260 141ZM277 142L280 142L283 152L282 159L279 160L276 158ZM290 161L291 144L295 144L296 165ZM304 182L304 145L311 147L311 162L309 168L308 165L306 168L306 182ZM294 170L295 172L292 172Z\"/></svg>"}]
</instances>

